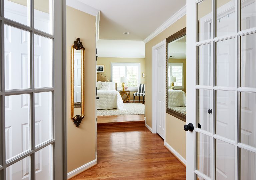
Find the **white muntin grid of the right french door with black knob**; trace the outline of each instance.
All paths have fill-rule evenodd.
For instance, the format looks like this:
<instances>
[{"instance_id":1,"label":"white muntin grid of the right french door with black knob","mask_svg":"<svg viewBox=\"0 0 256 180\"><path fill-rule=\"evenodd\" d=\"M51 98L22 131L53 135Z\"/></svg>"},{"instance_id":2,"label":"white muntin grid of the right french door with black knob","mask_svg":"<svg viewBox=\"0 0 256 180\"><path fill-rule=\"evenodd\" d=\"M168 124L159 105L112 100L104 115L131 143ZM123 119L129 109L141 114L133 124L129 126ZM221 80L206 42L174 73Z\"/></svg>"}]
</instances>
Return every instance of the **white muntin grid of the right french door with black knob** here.
<instances>
[{"instance_id":1,"label":"white muntin grid of the right french door with black knob","mask_svg":"<svg viewBox=\"0 0 256 180\"><path fill-rule=\"evenodd\" d=\"M196 26L195 26L196 27L195 37L197 37L195 39L199 39L199 40L202 39L202 41L195 42L195 54L198 53L197 49L198 49L199 46L202 46L202 45L205 45L205 44L210 44L210 43L214 44L214 47L211 48L211 52L214 52L214 53L211 53L213 55L213 60L214 60L214 63L213 63L213 66L214 66L213 69L214 70L213 70L213 72L211 72L211 74L212 74L211 81L214 82L214 85L211 85L211 86L205 86L204 84L199 85L198 80L195 81L197 83L195 85L195 102L196 103L199 102L196 91L207 89L207 90L211 90L211 91L214 92L213 96L211 97L212 100L213 100L213 106L212 107L214 107L213 110L212 110L212 116L213 116L214 123L211 127L212 131L210 131L210 132L205 131L204 129L200 129L198 126L196 126L197 128L195 128L195 131L196 131L196 133L201 133L203 135L207 135L207 136L211 137L211 141L213 143L212 146L211 146L212 151L213 151L213 153L211 154L211 157L213 158L213 162L212 162L213 166L212 167L216 167L216 163L219 164L219 162L220 162L219 159L218 159L218 162L216 161L217 156L220 157L219 155L216 154L216 148L219 149L218 152L221 152L220 151L220 149L221 149L220 145L223 144L223 143L233 147L232 149L234 151L234 154L232 155L232 157L233 157L233 161L234 161L234 163L233 163L234 164L234 170L233 170L234 175L233 175L232 178L233 179L241 179L241 174L249 176L252 173L251 171L246 170L246 168L243 168L244 164L241 165L242 161L243 162L248 161L248 158L244 159L244 157L241 156L241 149L243 150L242 151L243 154L247 154L247 157L250 156L250 157L255 157L256 158L256 156L255 156L255 153L256 153L255 143L256 143L256 141L254 140L254 141L250 142L251 143L250 144L249 142L245 141L244 137L243 138L241 137L241 135L244 136L244 130L243 130L243 133L242 133L241 128L242 128L242 126L244 126L244 122L245 122L245 118L241 117L241 115L244 116L243 113L245 113L245 112L241 113L241 111L242 111L241 109L243 109L243 107L241 107L241 101L243 101L243 99L241 97L241 94L246 94L246 93L247 94L252 94L252 93L256 94L256 88L255 88L255 85L253 84L254 80L252 80L252 82L249 82L249 83L247 82L247 84L245 82L245 80L248 80L249 77L253 78L254 76L252 74L245 74L246 71L244 69L241 69L243 67L242 66L243 63L244 63L243 61L247 60L248 57L249 57L248 55L247 55L247 57L243 56L244 52L242 52L242 50L243 50L242 46L244 46L245 43L243 44L241 39L244 38L245 36L248 36L248 37L249 36L254 36L254 33L256 32L256 28L255 28L256 25L250 24L250 26L245 27L244 24L242 25L242 23L244 23L244 20L243 20L243 22L240 22L240 21L242 21L241 18L248 17L248 14L246 15L245 11L243 9L245 7L243 4L246 3L246 0L245 1L236 0L236 1L232 1L232 2L230 1L229 4L235 3L234 4L235 6L232 7L233 11L231 12L234 15L232 18L234 18L234 20L235 20L235 22L232 22L233 23L232 27L234 27L234 29L231 28L232 31L227 31L229 33L227 33L227 32L222 33L222 34L218 33L217 32L218 31L217 26L219 24L217 24L218 23L218 17L217 16L219 16L220 13L216 12L216 10L215 10L216 7L217 7L217 1L220 2L220 0L212 0L212 2L211 2L212 3L211 4L212 5L212 13L208 18L210 20L213 19L212 24L213 24L214 27L212 27L212 30L211 30L212 33L210 33L210 34L214 34L213 38L211 37L211 39L208 39L208 40L205 39L205 38L204 39L203 38L198 38L198 34L200 34L202 32L198 32L197 15L196 15L196 18L195 18L195 20L196 20L195 21L195 24L196 24ZM198 7L197 4L202 3L202 2L203 1L195 1L195 9L196 9L195 12L196 13L197 13L197 7ZM252 4L253 3L255 4L255 2L252 2ZM241 8L242 8L242 10L241 10ZM248 6L247 6L247 8L248 8ZM253 8L252 8L253 12L255 12L256 11L255 6ZM225 17L225 14L223 14L223 17ZM229 15L229 18L230 17L231 17L231 15ZM253 15L253 17L254 17L254 15ZM228 18L228 14L227 14L227 18ZM254 22L254 19L251 18L250 22ZM241 28L240 28L240 26L241 26ZM205 26L205 27L207 27L207 26ZM241 29L241 31L240 31L240 29ZM232 38L234 38L233 43L234 43L234 59L235 59L233 61L233 63L234 63L234 67L233 67L234 72L232 74L232 76L234 77L234 82L231 83L231 86L227 85L227 84L222 84L220 86L217 86L219 84L217 83L217 79L216 79L216 75L217 75L217 71L216 71L217 70L217 68L216 68L216 64L217 64L216 44L218 42L225 41L227 39L232 39ZM251 39L247 38L247 41L250 41L250 40L252 41L252 39L253 38L251 38ZM239 50L236 51L237 49L239 49ZM249 54L249 53L247 53L247 54ZM198 58L198 56L195 56L195 57L196 57L196 59ZM255 59L255 54L254 54L254 59ZM249 61L252 62L252 60L250 60L250 59L249 59ZM198 59L195 62L197 63ZM249 64L252 64L252 63L249 63ZM196 67L196 69L198 69L198 65L196 65L195 67ZM251 67L251 68L253 68L253 67ZM244 73L245 78L241 79L241 76L242 76L243 73ZM230 83L230 82L228 82L228 83ZM235 94L234 94L234 101L235 102L233 104L234 107L235 107L235 111L232 111L234 113L234 117L233 117L234 120L232 122L232 125L234 126L234 128L233 128L234 136L232 135L232 137L225 137L225 135L223 136L221 134L218 134L217 131L216 131L217 130L216 129L217 125L216 125L216 109L215 108L216 108L216 98L217 98L216 92L218 92L218 91L219 92L220 91L235 92ZM254 104L255 104L255 100L252 100L252 98L251 98L251 101L254 101ZM253 102L251 102L250 104L253 104ZM198 114L198 112L197 112L198 105L196 105L195 107L196 107L196 109L195 109L195 112L196 112L195 124L196 124L196 123L198 123L198 120L197 120L198 119L198 115L197 115ZM253 107L249 107L249 106L247 108L248 109L253 109ZM251 121L253 121L253 120L256 121L256 119L253 119L253 118L250 119L250 120ZM254 122L254 124L253 123L250 123L250 124L252 124L252 126L255 126L255 122ZM243 127L243 128L245 128L245 127ZM246 127L246 128L248 129L249 127ZM253 130L251 131L251 133L254 133ZM217 144L216 144L217 141L218 142L223 142L223 143L218 143L220 145L218 145L219 147L217 147ZM197 142L195 141L195 147L197 147L197 146L198 146ZM195 157L196 157L196 154L195 154ZM241 160L241 158L243 158L243 159ZM197 162L196 159L195 159L195 162ZM250 161L250 163L253 164L252 161ZM254 163L255 163L255 161L254 161ZM199 170L196 170L196 169L197 169L197 167L195 166L195 174L196 174L195 178L200 177L201 179L216 179L217 177L219 177L219 175L216 174L216 173L219 173L219 172L216 171L216 169L213 169L214 173L213 173L212 177L210 176L211 178L209 176L207 177L205 174L203 174L203 172L200 172ZM239 169L238 172L237 172L237 169ZM255 177L256 177L256 175L254 176L254 178Z\"/></svg>"}]
</instances>

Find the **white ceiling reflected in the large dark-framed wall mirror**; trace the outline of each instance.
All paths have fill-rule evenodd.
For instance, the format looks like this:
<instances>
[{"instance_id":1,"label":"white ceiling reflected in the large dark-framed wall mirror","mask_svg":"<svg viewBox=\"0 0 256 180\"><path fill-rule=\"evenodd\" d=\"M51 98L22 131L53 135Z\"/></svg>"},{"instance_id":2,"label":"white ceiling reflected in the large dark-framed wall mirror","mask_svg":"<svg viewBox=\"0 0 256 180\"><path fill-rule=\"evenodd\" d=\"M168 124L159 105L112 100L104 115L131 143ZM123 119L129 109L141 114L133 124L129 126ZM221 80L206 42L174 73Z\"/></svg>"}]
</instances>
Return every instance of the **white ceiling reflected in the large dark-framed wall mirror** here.
<instances>
[{"instance_id":1,"label":"white ceiling reflected in the large dark-framed wall mirror","mask_svg":"<svg viewBox=\"0 0 256 180\"><path fill-rule=\"evenodd\" d=\"M171 59L186 59L187 52L186 52L186 36L181 37L173 42L168 44L168 58Z\"/></svg>"}]
</instances>

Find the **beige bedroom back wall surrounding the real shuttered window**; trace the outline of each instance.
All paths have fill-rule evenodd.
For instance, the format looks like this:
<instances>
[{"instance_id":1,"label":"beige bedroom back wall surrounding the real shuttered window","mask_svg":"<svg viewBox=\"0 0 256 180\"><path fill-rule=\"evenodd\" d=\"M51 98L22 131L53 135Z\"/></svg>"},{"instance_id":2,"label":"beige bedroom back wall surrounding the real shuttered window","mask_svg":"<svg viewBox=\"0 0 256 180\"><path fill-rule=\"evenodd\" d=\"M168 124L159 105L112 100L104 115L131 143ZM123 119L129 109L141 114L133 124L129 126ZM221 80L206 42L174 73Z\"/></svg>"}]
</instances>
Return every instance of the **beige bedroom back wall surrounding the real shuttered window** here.
<instances>
[{"instance_id":1,"label":"beige bedroom back wall surrounding the real shuttered window","mask_svg":"<svg viewBox=\"0 0 256 180\"><path fill-rule=\"evenodd\" d=\"M142 73L145 72L145 58L109 58L109 57L98 57L97 58L97 64L98 65L105 65L104 66L104 73L100 73L104 76L107 76L108 79L111 81L111 62L115 63L140 63L141 68L141 74L140 74L140 83L145 84L147 74L145 74L145 77L142 77ZM147 90L147 87L146 87ZM130 92L130 100L133 101L133 93L134 91ZM145 97L146 98L146 97ZM142 100L142 97L140 98ZM135 100L139 100L139 97L135 97Z\"/></svg>"}]
</instances>

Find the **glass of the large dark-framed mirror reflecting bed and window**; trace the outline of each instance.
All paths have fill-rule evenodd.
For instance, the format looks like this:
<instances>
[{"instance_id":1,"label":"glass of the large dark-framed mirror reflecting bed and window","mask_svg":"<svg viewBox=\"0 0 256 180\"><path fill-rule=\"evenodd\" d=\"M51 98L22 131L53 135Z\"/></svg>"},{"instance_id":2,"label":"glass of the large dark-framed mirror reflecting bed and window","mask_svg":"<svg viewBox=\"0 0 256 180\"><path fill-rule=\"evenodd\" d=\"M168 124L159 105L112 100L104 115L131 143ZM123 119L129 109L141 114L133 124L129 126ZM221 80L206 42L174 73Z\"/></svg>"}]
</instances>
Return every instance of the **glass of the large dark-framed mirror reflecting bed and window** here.
<instances>
[{"instance_id":1,"label":"glass of the large dark-framed mirror reflecting bed and window","mask_svg":"<svg viewBox=\"0 0 256 180\"><path fill-rule=\"evenodd\" d=\"M186 35L168 43L168 108L186 114Z\"/></svg>"}]
</instances>

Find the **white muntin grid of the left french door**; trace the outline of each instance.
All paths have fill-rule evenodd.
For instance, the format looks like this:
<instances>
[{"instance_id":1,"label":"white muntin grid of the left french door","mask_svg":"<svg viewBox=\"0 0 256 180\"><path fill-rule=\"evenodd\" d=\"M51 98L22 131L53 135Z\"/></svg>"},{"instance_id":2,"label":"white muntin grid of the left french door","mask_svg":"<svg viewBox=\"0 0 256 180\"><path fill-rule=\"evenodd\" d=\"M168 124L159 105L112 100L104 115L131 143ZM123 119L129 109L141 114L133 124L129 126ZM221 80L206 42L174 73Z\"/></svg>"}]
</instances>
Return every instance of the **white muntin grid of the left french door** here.
<instances>
[{"instance_id":1,"label":"white muntin grid of the left french door","mask_svg":"<svg viewBox=\"0 0 256 180\"><path fill-rule=\"evenodd\" d=\"M0 124L0 127L1 127L1 134L0 134L0 137L1 137L1 140L0 140L0 177L1 177L1 180L2 179L5 179L7 178L8 174L7 174L7 169L10 167L15 167L14 165L17 164L17 163L20 163L22 162L22 164L24 165L24 159L29 159L29 160L26 160L26 163L29 161L29 167L26 168L26 171L27 173L25 173L25 178L30 178L30 179L35 179L36 177L36 156L38 154L38 152L41 152L41 150L45 149L46 147L51 147L51 173L49 175L49 178L50 179L53 179L54 177L54 164L53 164L53 159L54 159L54 54L53 54L53 47L54 47L54 35L51 35L51 33L53 32L53 4L54 2L49 0L49 6L50 6L50 10L49 10L49 19L50 19L50 28L49 28L49 31L45 31L43 32L44 30L38 30L40 29L40 27L37 25L37 29L34 27L34 2L33 0L28 0L27 1L27 10L28 10L28 13L27 13L27 23L22 23L22 22L19 22L18 20L16 19L13 19L13 18L10 18L10 16L8 16L9 18L5 17L4 14L6 11L6 9L4 8L4 4L7 0L2 0L2 7L1 7L1 15L0 15L0 23L1 23L1 39L2 39L2 45L1 45L1 52L5 52L5 43L4 43L4 40L6 39L5 38L5 35L6 35L6 31L5 31L5 26L10 26L10 27L14 27L14 28L18 28L20 29L21 31L24 31L24 32L28 32L29 34L28 35L25 35L26 38L28 38L29 41L27 41L28 43L28 48L29 48L29 52L27 53L27 59L25 61L27 62L27 70L28 70L28 76L26 76L26 80L28 80L28 82L26 82L27 86L26 88L10 88L10 89L6 89L6 79L5 79L5 62L2 61L2 64L1 64L1 72L2 72L2 75L1 75L1 89L2 91L0 91L0 100L1 100L1 107L2 107L2 112L1 112L1 124ZM9 3L9 2L7 2ZM12 2L11 2L12 3ZM24 9L24 8L23 8ZM50 33L50 34L48 34ZM21 36L23 36L24 33L21 33ZM49 43L51 48L48 49L48 52L49 52L49 57L52 59L49 63L49 66L51 67L50 68L50 71L51 71L51 77L49 77L51 79L51 82L50 85L46 85L46 86L42 86L37 89L35 89L35 44L34 43L37 43L36 42L36 39L34 37L34 35L38 35L38 36L41 36L41 37L44 37L44 38L48 38L49 40L51 40L51 42ZM25 37L24 36L24 37ZM24 39L24 38L23 38ZM24 42L26 41L26 39L24 39ZM24 43L21 41L21 43ZM15 53L15 51L13 52ZM2 59L5 59L5 53L2 53ZM50 124L50 127L49 127L49 131L50 131L50 136L47 137L47 138L43 138L41 139L41 141L39 141L38 143L36 143L36 135L35 135L35 132L36 132L36 119L35 119L35 106L37 106L38 104L37 103L40 103L38 102L38 97L37 95L38 94L44 94L44 93L50 93L51 94L51 101L49 102L50 105L51 105L51 110L49 110L50 114L49 114L49 117L51 117L51 121L49 122ZM29 138L29 141L27 146L29 148L26 148L26 150L24 152L21 152L20 154L17 154L11 158L7 158L7 151L6 151L6 136L5 136L5 123L6 123L6 120L5 120L5 115L6 112L5 112L5 105L6 105L6 97L11 97L11 96L17 96L17 95L21 95L21 96L24 96L26 95L28 97L30 97L30 99L25 102L25 105L26 103L29 103L30 106L27 107L29 109L29 116L30 116L30 119L27 123L27 126L26 127L28 129L27 133L26 133L26 136ZM39 98L40 99L40 98ZM17 114L13 114L14 118L15 117L17 118ZM25 128L25 129L26 129ZM35 146L36 144L38 144L37 146ZM28 169L28 170L27 170ZM22 170L23 171L23 170Z\"/></svg>"}]
</instances>

